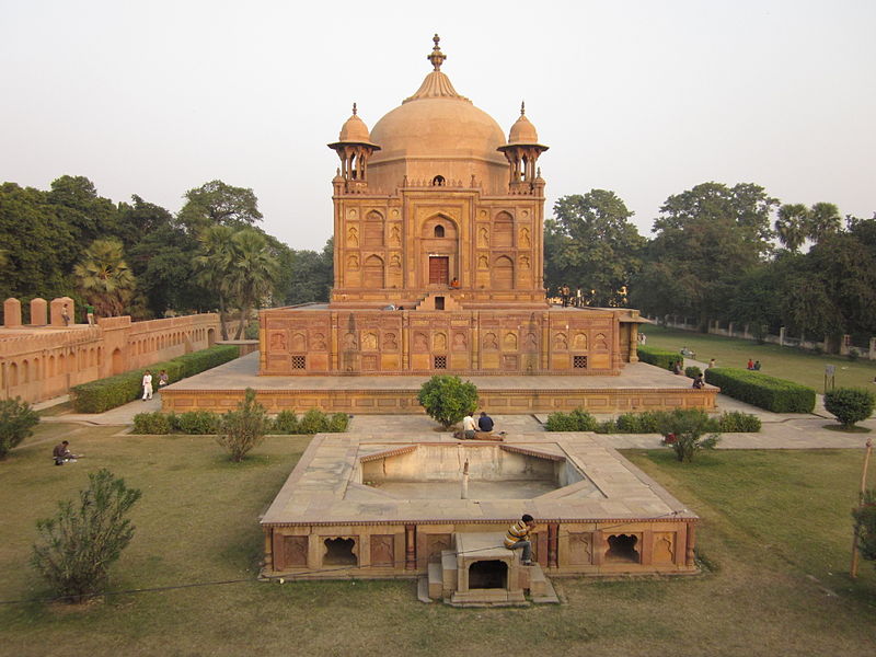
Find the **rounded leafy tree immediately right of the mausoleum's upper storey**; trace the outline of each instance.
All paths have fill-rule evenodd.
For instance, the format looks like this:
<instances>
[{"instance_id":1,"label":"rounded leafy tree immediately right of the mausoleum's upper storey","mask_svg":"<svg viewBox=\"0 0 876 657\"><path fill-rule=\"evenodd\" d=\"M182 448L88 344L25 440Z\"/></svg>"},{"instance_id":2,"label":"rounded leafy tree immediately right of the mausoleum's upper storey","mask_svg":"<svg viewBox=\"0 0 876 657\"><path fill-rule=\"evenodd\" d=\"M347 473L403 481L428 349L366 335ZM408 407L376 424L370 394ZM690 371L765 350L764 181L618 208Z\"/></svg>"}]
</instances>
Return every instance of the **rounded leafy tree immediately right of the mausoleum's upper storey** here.
<instances>
[{"instance_id":1,"label":"rounded leafy tree immediately right of the mausoleum's upper storey","mask_svg":"<svg viewBox=\"0 0 876 657\"><path fill-rule=\"evenodd\" d=\"M638 270L646 242L630 222L632 216L606 189L560 198L554 218L544 224L548 287L583 287L593 306L622 304L622 290Z\"/></svg>"}]
</instances>

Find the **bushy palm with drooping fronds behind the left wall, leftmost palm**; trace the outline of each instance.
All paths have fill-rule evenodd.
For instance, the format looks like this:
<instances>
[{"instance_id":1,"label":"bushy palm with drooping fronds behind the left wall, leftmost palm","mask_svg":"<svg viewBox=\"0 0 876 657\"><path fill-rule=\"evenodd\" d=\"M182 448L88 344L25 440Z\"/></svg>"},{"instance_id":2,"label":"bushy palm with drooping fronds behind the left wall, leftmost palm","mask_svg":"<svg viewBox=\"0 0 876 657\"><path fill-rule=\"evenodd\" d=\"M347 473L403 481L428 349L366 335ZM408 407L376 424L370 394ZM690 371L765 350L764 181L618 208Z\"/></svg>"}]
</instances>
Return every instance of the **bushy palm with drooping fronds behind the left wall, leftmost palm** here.
<instances>
[{"instance_id":1,"label":"bushy palm with drooping fronds behind the left wall, leftmost palm","mask_svg":"<svg viewBox=\"0 0 876 657\"><path fill-rule=\"evenodd\" d=\"M73 266L73 274L82 295L105 316L120 315L134 295L134 274L116 238L94 240Z\"/></svg>"}]
</instances>

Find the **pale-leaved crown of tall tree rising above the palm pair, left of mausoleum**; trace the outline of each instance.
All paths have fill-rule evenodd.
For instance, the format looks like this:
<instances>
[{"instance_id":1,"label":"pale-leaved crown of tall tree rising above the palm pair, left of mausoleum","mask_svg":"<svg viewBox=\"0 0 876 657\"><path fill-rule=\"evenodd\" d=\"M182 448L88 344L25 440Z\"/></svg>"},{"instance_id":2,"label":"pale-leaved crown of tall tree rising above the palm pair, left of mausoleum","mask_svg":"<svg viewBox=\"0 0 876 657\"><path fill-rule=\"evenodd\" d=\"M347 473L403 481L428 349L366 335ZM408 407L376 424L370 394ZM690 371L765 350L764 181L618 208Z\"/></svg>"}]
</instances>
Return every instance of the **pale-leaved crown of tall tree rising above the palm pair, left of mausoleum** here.
<instances>
[{"instance_id":1,"label":"pale-leaved crown of tall tree rising above the palm pair, left of mausoleum","mask_svg":"<svg viewBox=\"0 0 876 657\"><path fill-rule=\"evenodd\" d=\"M211 226L242 228L262 220L258 199L246 187L210 181L186 192L185 198L186 204L180 210L180 223L195 234Z\"/></svg>"}]
</instances>

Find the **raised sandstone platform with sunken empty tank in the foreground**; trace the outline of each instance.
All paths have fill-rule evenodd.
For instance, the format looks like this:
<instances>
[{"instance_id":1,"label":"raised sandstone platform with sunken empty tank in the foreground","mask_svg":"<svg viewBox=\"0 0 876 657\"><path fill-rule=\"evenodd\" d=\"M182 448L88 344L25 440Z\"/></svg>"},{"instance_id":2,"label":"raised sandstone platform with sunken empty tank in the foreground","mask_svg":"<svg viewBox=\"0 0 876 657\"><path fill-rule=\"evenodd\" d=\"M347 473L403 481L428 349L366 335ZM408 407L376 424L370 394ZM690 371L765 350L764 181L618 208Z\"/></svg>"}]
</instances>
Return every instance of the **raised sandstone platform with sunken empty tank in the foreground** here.
<instances>
[{"instance_id":1,"label":"raised sandstone platform with sunken empty tank in the foreground","mask_svg":"<svg viewBox=\"0 0 876 657\"><path fill-rule=\"evenodd\" d=\"M480 498L476 486L463 484L464 463L470 483L504 481L504 495ZM553 489L515 486L527 477L552 477ZM458 488L417 498L383 486L399 480ZM549 574L698 572L696 515L602 436L522 434L488 443L426 433L315 436L262 518L263 574L415 577L452 551L458 558L442 566L448 578L430 578L438 589L448 579L445 593L471 588L469 568L484 561L487 581L475 588L499 586L488 581L497 574L508 590L531 588L517 579L519 555L502 546L503 532L522 514L535 518L533 560Z\"/></svg>"}]
</instances>

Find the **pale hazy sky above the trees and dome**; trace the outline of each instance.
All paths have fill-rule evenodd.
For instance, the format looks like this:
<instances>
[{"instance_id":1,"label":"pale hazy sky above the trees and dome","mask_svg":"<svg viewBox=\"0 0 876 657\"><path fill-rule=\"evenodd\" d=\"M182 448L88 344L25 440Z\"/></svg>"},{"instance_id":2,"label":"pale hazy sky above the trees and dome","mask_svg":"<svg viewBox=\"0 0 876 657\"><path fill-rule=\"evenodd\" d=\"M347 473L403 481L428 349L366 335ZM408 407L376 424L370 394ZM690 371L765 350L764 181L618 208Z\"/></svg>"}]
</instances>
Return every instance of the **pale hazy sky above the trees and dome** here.
<instances>
[{"instance_id":1,"label":"pale hazy sky above the trees and dome","mask_svg":"<svg viewBox=\"0 0 876 657\"><path fill-rule=\"evenodd\" d=\"M716 181L876 211L876 2L0 0L0 181L84 175L176 212L251 187L292 249L332 232L326 145L431 70L550 146L545 210L611 189L650 235L666 198Z\"/></svg>"}]
</instances>

